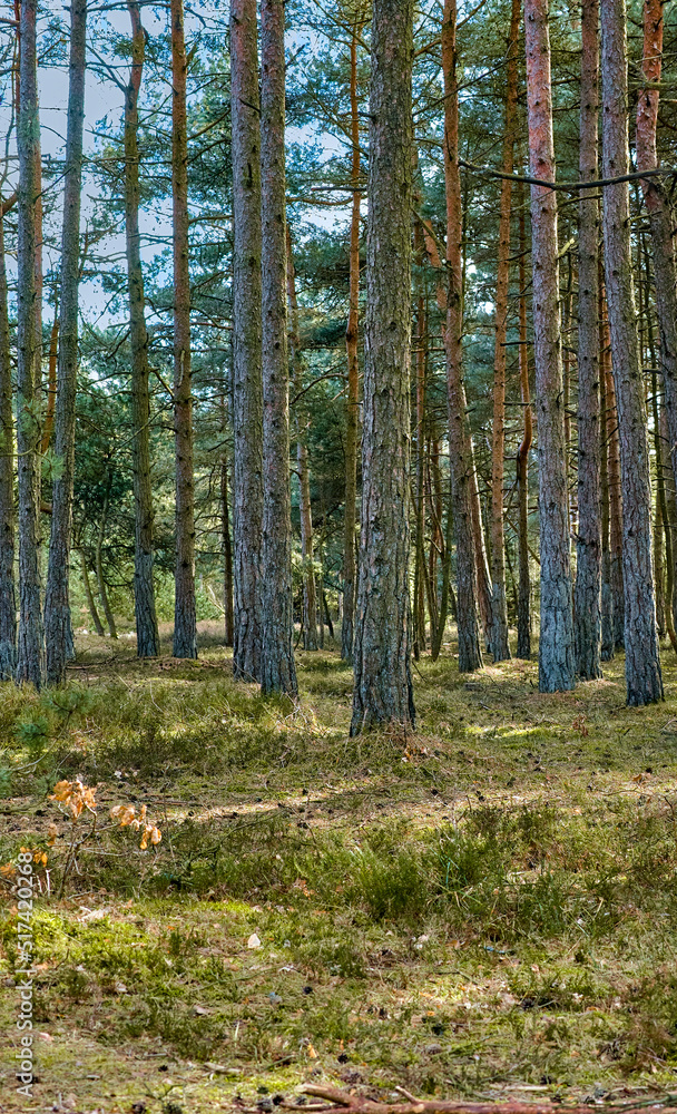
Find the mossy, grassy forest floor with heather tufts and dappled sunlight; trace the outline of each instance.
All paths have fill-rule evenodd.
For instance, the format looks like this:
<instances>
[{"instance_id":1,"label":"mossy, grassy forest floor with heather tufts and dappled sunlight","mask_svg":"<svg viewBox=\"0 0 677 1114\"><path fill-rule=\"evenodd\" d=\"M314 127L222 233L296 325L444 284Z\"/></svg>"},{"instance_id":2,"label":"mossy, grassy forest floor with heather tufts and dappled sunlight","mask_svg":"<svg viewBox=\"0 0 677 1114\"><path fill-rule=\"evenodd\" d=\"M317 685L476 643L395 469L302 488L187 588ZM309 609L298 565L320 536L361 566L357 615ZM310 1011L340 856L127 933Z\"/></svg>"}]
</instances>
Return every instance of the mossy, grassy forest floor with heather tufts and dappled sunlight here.
<instances>
[{"instance_id":1,"label":"mossy, grassy forest floor with heather tufts and dappled sunlight","mask_svg":"<svg viewBox=\"0 0 677 1114\"><path fill-rule=\"evenodd\" d=\"M604 1107L677 1091L677 666L666 702L536 663L414 668L416 733L347 737L352 678L300 704L87 636L68 686L0 692L0 1110L273 1111L386 1100ZM50 799L96 786L97 830ZM161 843L110 822L147 805ZM69 848L76 861L63 871ZM81 841L81 842L80 842ZM31 1100L16 1093L12 862L36 862ZM71 856L72 861L72 856Z\"/></svg>"}]
</instances>

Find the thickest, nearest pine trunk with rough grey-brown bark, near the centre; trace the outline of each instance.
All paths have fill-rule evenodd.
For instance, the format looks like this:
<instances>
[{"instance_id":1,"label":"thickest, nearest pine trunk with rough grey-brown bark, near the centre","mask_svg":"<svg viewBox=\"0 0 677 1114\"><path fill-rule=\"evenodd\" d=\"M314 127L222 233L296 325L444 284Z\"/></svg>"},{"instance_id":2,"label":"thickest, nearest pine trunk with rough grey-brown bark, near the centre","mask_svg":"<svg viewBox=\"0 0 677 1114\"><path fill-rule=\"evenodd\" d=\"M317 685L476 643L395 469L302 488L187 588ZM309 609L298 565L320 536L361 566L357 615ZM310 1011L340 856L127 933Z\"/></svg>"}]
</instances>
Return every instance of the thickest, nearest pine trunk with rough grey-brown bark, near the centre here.
<instances>
[{"instance_id":1,"label":"thickest, nearest pine trunk with rough grey-brown bark, near the centre","mask_svg":"<svg viewBox=\"0 0 677 1114\"><path fill-rule=\"evenodd\" d=\"M360 580L351 734L413 725L409 482L412 0L375 0Z\"/></svg>"}]
</instances>

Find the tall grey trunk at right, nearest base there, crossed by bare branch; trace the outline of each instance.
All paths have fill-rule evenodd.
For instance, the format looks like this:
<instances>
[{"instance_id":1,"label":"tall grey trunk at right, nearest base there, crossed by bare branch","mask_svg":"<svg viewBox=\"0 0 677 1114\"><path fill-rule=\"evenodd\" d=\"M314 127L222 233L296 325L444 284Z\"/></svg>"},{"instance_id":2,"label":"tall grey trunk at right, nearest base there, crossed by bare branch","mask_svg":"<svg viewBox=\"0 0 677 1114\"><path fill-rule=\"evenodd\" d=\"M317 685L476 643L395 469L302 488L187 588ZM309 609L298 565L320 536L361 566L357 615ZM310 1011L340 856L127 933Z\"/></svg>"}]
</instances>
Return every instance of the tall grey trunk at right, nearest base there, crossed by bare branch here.
<instances>
[{"instance_id":1,"label":"tall grey trunk at right, nearest base there, crossed by bare branch","mask_svg":"<svg viewBox=\"0 0 677 1114\"><path fill-rule=\"evenodd\" d=\"M601 0L604 177L628 173L625 0ZM627 183L604 190L604 238L611 364L616 387L622 480L622 573L627 701L663 700L654 571L651 489L630 258Z\"/></svg>"}]
</instances>

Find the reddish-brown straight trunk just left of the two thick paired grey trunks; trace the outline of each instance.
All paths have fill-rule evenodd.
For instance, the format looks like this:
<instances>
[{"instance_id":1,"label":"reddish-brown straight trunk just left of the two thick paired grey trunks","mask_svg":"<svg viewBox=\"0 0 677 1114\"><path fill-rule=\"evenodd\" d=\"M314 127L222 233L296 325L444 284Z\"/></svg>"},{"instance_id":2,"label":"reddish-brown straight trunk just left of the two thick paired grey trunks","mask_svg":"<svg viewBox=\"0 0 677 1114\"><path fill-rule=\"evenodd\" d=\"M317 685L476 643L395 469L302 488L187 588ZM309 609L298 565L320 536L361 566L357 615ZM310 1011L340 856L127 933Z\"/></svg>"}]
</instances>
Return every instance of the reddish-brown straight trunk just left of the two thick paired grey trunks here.
<instances>
[{"instance_id":1,"label":"reddish-brown straight trunk just left of the two thick paired grey trunks","mask_svg":"<svg viewBox=\"0 0 677 1114\"><path fill-rule=\"evenodd\" d=\"M197 657L195 605L195 490L190 365L188 241L188 126L184 2L171 0L171 198L174 209L174 437L176 456L176 571L174 656Z\"/></svg>"}]
</instances>

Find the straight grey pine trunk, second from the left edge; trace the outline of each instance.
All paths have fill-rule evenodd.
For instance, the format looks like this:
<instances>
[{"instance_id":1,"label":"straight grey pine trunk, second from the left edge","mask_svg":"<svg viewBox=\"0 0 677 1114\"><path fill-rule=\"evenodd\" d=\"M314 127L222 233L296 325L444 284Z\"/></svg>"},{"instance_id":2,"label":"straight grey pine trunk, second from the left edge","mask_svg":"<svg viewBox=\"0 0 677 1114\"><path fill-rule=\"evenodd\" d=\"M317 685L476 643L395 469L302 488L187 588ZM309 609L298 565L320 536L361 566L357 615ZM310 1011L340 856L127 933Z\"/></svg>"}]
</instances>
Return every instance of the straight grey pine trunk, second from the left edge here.
<instances>
[{"instance_id":1,"label":"straight grey pine trunk, second from the left edge","mask_svg":"<svg viewBox=\"0 0 677 1114\"><path fill-rule=\"evenodd\" d=\"M19 205L17 233L17 451L19 460L19 644L17 683L39 688L45 675L40 600L40 355L36 260L40 193L36 0L20 8Z\"/></svg>"}]
</instances>

